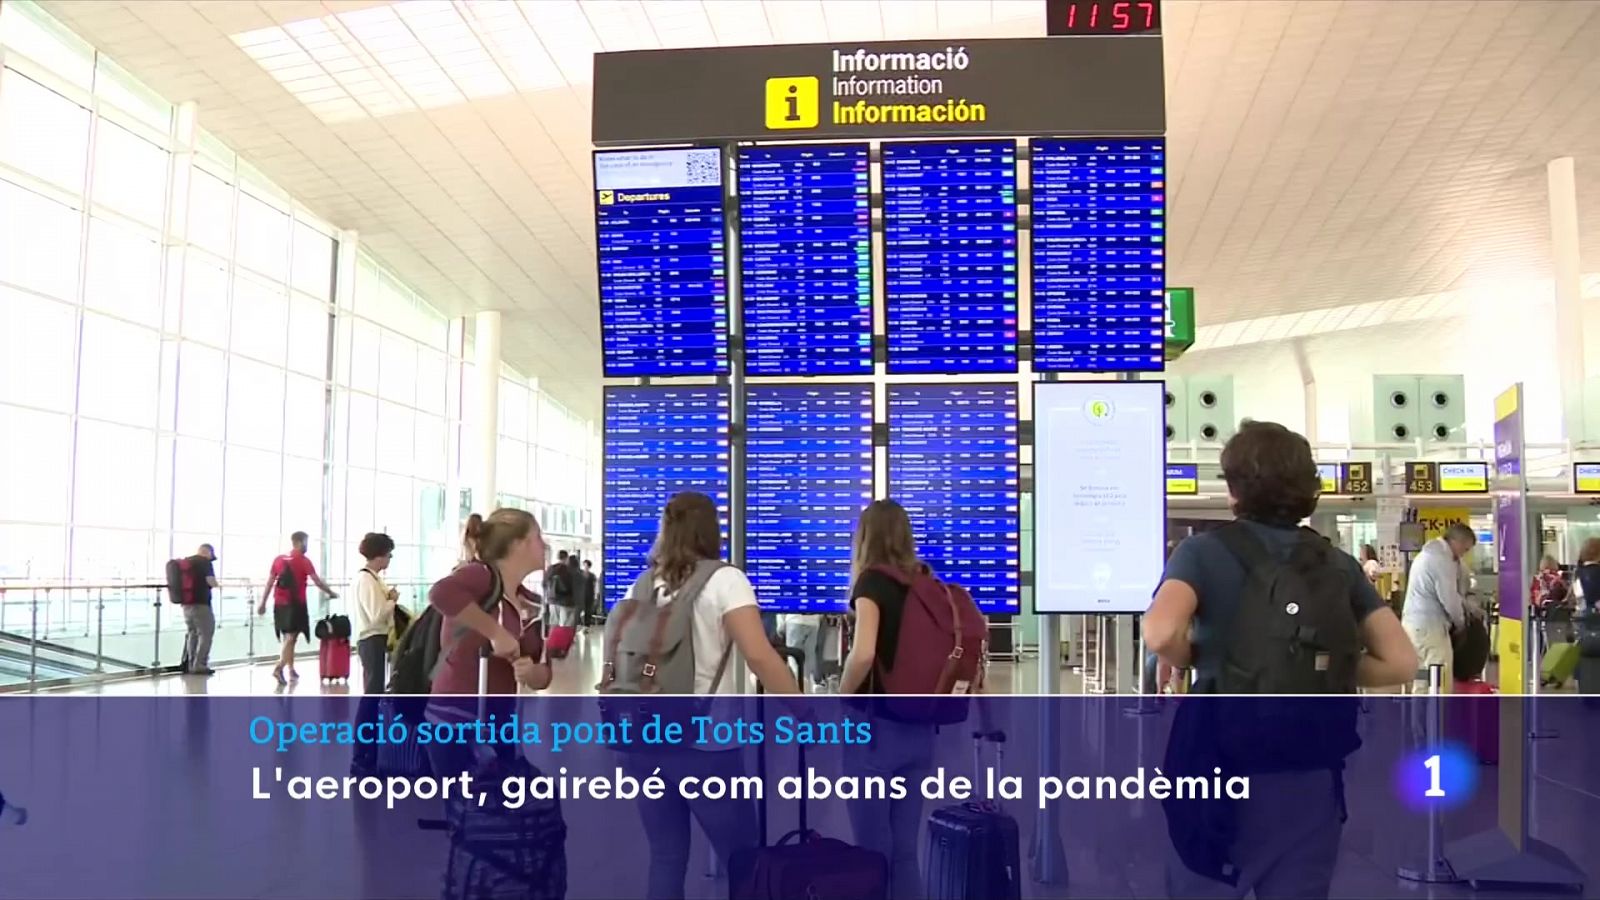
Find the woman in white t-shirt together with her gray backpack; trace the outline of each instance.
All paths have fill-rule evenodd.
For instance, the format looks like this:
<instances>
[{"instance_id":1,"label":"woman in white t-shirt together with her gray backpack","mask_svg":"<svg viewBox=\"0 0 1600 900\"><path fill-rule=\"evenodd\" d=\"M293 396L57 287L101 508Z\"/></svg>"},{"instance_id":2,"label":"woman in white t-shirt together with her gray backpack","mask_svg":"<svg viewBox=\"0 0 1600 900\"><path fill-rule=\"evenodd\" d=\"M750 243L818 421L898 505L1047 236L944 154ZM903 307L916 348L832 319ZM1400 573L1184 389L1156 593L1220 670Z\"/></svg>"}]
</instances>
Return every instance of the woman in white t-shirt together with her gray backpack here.
<instances>
[{"instance_id":1,"label":"woman in white t-shirt together with her gray backpack","mask_svg":"<svg viewBox=\"0 0 1600 900\"><path fill-rule=\"evenodd\" d=\"M602 706L648 713L650 706L624 697L742 693L728 665L734 649L768 693L798 693L795 676L762 628L755 588L744 572L722 562L717 506L704 493L678 493L661 516L650 569L606 618L605 668L597 685ZM693 735L693 727L686 733ZM624 756L624 764L635 777L654 772L669 785L685 777L731 778L742 773L739 749L736 745L650 748ZM723 863L736 850L755 847L758 834L755 806L738 799L691 801L667 791L659 801L642 798L638 815L650 842L645 895L653 900L686 895L690 818L699 823Z\"/></svg>"}]
</instances>

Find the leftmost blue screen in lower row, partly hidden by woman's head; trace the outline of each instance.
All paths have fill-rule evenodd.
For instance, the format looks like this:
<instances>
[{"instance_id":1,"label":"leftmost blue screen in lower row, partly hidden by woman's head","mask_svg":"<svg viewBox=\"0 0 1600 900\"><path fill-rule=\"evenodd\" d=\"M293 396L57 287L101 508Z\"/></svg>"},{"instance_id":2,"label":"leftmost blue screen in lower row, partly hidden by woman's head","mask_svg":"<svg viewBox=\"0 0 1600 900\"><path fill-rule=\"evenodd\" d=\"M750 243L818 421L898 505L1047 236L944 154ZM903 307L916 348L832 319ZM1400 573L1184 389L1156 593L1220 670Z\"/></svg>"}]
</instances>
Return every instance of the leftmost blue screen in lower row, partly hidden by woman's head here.
<instances>
[{"instance_id":1,"label":"leftmost blue screen in lower row, partly hidden by woman's head","mask_svg":"<svg viewBox=\"0 0 1600 900\"><path fill-rule=\"evenodd\" d=\"M728 533L728 391L605 389L605 602L621 601L645 570L661 511L680 490L717 503Z\"/></svg>"}]
</instances>

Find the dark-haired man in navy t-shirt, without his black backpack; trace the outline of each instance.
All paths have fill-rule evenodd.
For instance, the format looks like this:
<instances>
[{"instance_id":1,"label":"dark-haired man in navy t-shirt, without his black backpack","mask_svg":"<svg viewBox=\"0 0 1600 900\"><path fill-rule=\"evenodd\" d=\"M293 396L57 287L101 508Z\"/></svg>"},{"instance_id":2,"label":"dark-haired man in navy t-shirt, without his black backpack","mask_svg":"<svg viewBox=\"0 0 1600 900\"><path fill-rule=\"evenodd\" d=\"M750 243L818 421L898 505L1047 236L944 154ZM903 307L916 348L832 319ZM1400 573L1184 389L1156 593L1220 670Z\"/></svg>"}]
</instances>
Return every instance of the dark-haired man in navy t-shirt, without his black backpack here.
<instances>
[{"instance_id":1,"label":"dark-haired man in navy t-shirt, without his black backpack","mask_svg":"<svg viewBox=\"0 0 1600 900\"><path fill-rule=\"evenodd\" d=\"M1322 477L1310 444L1275 423L1245 423L1222 448L1222 480L1242 527L1288 560L1299 524L1317 509ZM1350 610L1360 623L1363 687L1400 685L1416 671L1416 652L1400 620L1382 604L1349 554ZM1222 538L1186 538L1166 560L1141 629L1149 649L1171 666L1194 666L1195 690L1214 690L1245 594L1245 565ZM1251 799L1237 801L1227 862L1237 886L1197 874L1181 860L1168 866L1171 897L1326 897L1342 833L1342 790L1336 772L1274 772L1251 778Z\"/></svg>"}]
</instances>

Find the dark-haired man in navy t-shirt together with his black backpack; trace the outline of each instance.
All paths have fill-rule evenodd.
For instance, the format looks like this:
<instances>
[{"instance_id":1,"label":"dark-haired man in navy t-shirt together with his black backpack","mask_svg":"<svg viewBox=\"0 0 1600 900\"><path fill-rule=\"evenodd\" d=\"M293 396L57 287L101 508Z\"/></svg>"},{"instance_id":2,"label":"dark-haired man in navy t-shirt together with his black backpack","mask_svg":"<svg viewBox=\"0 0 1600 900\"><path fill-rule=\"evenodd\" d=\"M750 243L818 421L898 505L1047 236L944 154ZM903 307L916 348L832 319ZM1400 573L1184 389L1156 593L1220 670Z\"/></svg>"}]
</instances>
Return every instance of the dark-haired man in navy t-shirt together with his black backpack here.
<instances>
[{"instance_id":1,"label":"dark-haired man in navy t-shirt together with his black backpack","mask_svg":"<svg viewBox=\"0 0 1600 900\"><path fill-rule=\"evenodd\" d=\"M1197 693L1323 693L1182 703L1166 777L1251 777L1250 799L1165 804L1171 897L1326 897L1344 823L1358 687L1405 684L1416 652L1362 565L1299 522L1322 479L1304 437L1245 423L1222 448L1234 522L1186 538L1141 628ZM1451 581L1453 583L1453 581Z\"/></svg>"}]
</instances>

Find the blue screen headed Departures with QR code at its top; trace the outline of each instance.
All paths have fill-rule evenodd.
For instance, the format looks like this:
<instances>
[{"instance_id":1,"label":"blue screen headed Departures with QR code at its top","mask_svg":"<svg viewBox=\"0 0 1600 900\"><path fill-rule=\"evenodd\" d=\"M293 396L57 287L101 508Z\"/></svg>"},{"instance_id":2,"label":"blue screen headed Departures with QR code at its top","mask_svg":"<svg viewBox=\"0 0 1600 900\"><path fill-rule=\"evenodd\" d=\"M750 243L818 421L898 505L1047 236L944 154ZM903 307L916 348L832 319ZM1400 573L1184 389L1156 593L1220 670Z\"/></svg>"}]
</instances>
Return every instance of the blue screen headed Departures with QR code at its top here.
<instances>
[{"instance_id":1,"label":"blue screen headed Departures with QR code at its top","mask_svg":"<svg viewBox=\"0 0 1600 900\"><path fill-rule=\"evenodd\" d=\"M728 372L722 151L595 154L606 376Z\"/></svg>"}]
</instances>

